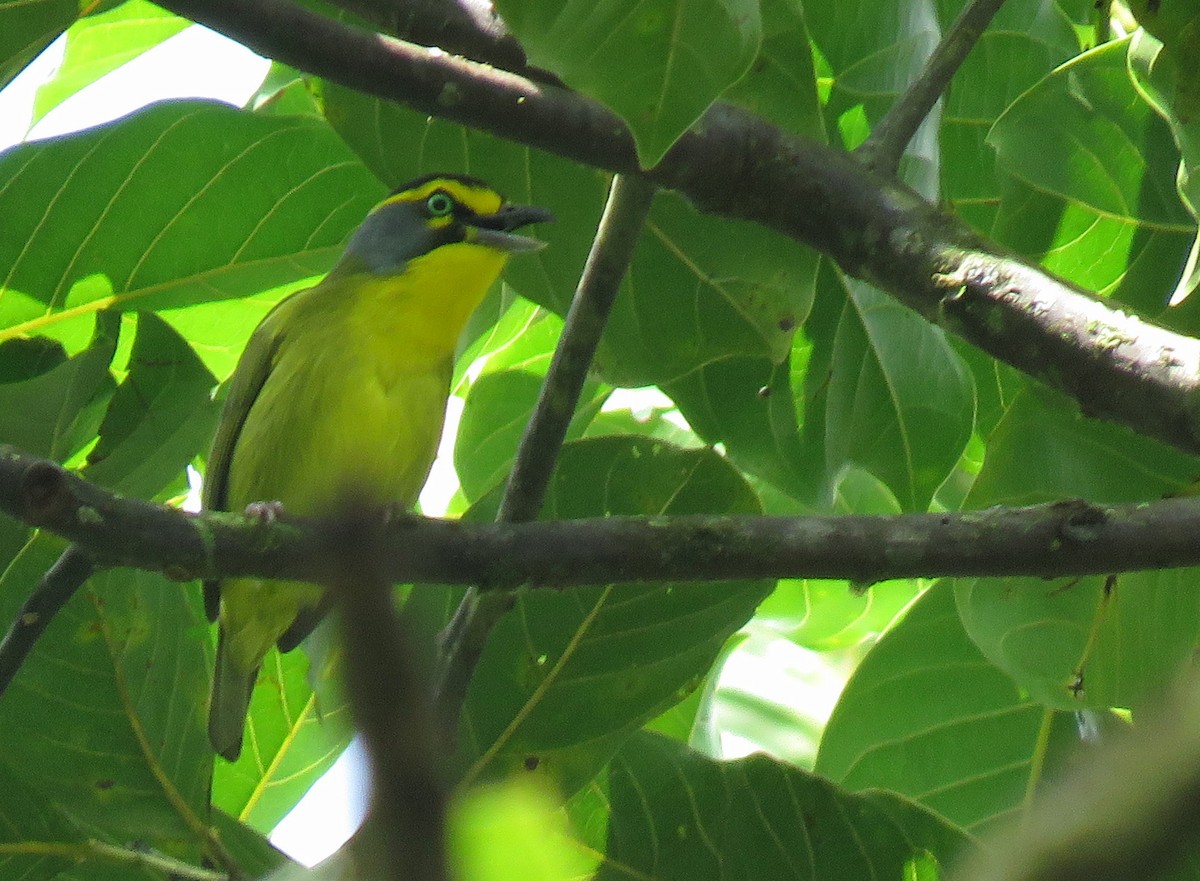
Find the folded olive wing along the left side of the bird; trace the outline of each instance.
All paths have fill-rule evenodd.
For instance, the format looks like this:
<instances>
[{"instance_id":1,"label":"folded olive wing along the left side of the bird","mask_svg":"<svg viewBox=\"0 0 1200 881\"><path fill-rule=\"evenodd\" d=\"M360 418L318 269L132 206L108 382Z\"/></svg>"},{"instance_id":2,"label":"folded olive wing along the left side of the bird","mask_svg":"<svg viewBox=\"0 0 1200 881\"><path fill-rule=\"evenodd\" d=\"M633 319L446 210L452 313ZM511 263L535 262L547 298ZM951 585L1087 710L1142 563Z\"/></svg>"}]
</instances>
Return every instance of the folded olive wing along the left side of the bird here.
<instances>
[{"instance_id":1,"label":"folded olive wing along the left side of the bird","mask_svg":"<svg viewBox=\"0 0 1200 881\"><path fill-rule=\"evenodd\" d=\"M290 299L290 298L289 298ZM206 511L228 510L227 493L229 487L229 462L233 459L233 450L238 445L238 437L241 434L241 426L246 422L250 408L254 406L258 392L263 390L266 377L271 373L282 340L282 328L286 322L281 319L281 306L288 302L283 300L275 306L262 324L254 330L246 343L238 361L238 368L233 372L229 382L229 394L226 396L224 409L221 413L221 424L217 426L216 437L212 438L212 451L204 472L204 486L200 492L200 504ZM204 582L204 611L209 621L217 619L221 607L221 582Z\"/></svg>"}]
</instances>

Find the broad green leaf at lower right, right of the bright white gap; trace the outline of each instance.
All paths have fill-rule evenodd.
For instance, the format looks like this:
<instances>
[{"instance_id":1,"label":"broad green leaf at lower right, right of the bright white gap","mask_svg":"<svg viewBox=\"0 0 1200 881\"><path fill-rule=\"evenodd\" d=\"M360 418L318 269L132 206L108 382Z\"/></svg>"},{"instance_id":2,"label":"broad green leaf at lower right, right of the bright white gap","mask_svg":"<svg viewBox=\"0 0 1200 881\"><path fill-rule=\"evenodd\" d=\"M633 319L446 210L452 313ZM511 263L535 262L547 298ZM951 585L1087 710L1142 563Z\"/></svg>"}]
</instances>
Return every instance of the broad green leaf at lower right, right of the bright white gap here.
<instances>
[{"instance_id":1,"label":"broad green leaf at lower right, right of the bright white gap","mask_svg":"<svg viewBox=\"0 0 1200 881\"><path fill-rule=\"evenodd\" d=\"M874 588L876 591L880 587ZM1044 708L979 653L938 582L854 671L826 726L816 771L851 790L890 790L971 832L1012 820L1039 771L1061 761L1069 717Z\"/></svg>"}]
</instances>

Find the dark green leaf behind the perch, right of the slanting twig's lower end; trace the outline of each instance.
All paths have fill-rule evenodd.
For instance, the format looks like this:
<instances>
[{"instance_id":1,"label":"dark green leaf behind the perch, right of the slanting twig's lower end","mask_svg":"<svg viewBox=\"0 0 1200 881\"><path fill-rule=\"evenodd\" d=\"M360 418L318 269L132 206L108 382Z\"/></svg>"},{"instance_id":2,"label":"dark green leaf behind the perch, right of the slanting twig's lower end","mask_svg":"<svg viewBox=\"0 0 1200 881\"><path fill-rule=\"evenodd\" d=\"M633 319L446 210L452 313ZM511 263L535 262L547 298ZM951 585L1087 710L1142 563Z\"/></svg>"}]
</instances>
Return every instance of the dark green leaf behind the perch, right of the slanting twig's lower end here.
<instances>
[{"instance_id":1,"label":"dark green leaf behind the perch, right of the slanting twig's lower end","mask_svg":"<svg viewBox=\"0 0 1200 881\"><path fill-rule=\"evenodd\" d=\"M493 493L472 516L490 519L496 501ZM757 510L742 478L710 450L611 437L563 448L542 514ZM624 738L703 681L768 589L739 581L518 594L468 691L458 756L467 779L536 767L564 791L583 785ZM425 607L422 630L436 631L446 593L420 587L414 600Z\"/></svg>"}]
</instances>

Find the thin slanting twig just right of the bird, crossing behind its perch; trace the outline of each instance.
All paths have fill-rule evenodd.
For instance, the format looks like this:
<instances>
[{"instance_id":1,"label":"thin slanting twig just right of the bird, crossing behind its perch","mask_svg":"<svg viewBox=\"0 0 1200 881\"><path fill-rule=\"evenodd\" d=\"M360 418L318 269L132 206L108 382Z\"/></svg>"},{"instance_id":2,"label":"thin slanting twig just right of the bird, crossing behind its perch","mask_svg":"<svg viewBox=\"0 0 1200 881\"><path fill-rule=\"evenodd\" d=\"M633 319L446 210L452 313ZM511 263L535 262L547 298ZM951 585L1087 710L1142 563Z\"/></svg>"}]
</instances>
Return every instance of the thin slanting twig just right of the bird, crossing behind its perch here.
<instances>
[{"instance_id":1,"label":"thin slanting twig just right of the bird, crossing behind its perch","mask_svg":"<svg viewBox=\"0 0 1200 881\"><path fill-rule=\"evenodd\" d=\"M613 178L608 203L546 371L538 404L521 437L497 522L530 521L541 510L558 451L575 415L592 359L620 289L620 280L629 269L646 224L654 190L654 185L644 178ZM490 591L476 587L467 591L442 636L434 700L443 730L451 738L458 730L458 714L467 697L467 687L487 636L511 605L509 591L516 585L490 587Z\"/></svg>"}]
</instances>

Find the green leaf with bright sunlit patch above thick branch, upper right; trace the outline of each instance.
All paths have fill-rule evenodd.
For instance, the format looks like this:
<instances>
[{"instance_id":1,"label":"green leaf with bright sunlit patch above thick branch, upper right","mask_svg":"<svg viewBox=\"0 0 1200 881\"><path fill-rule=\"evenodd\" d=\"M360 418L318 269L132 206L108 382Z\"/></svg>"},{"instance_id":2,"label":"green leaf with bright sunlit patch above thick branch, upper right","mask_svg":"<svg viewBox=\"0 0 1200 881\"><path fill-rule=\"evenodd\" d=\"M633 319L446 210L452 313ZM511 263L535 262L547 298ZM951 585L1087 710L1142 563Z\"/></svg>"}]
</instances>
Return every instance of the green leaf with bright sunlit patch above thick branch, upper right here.
<instances>
[{"instance_id":1,"label":"green leaf with bright sunlit patch above thick branch, upper right","mask_svg":"<svg viewBox=\"0 0 1200 881\"><path fill-rule=\"evenodd\" d=\"M988 143L1003 202L996 235L1085 287L1162 311L1195 239L1178 151L1134 90L1129 41L1080 55L1014 102Z\"/></svg>"}]
</instances>

